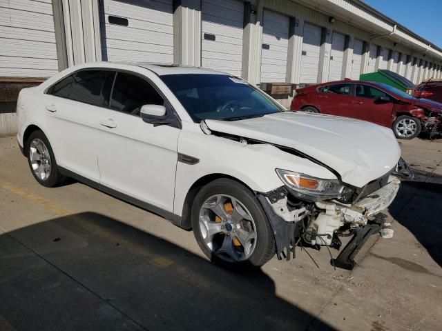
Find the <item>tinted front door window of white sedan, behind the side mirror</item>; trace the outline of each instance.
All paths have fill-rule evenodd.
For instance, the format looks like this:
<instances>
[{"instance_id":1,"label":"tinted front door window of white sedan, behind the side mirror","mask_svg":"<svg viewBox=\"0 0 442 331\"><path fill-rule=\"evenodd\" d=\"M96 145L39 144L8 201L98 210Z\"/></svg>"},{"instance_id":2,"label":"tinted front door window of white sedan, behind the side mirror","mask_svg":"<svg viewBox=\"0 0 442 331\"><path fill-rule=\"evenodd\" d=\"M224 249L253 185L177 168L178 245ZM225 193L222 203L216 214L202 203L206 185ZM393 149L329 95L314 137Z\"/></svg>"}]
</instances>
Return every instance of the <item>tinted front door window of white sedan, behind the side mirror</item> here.
<instances>
[{"instance_id":1,"label":"tinted front door window of white sedan, behind the side mirror","mask_svg":"<svg viewBox=\"0 0 442 331\"><path fill-rule=\"evenodd\" d=\"M164 105L164 99L151 83L126 72L118 72L113 86L111 109L137 115L144 105Z\"/></svg>"}]
</instances>

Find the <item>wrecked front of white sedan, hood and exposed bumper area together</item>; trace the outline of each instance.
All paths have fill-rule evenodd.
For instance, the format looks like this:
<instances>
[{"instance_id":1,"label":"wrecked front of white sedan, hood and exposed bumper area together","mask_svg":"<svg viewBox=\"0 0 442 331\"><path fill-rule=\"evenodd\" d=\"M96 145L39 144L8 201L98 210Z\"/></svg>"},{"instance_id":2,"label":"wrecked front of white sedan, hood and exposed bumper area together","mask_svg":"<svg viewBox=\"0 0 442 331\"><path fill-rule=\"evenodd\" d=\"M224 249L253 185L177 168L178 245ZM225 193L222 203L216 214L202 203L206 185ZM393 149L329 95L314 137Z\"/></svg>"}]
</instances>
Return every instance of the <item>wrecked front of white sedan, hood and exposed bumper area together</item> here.
<instances>
[{"instance_id":1,"label":"wrecked front of white sedan, hood and exposed bumper area together","mask_svg":"<svg viewBox=\"0 0 442 331\"><path fill-rule=\"evenodd\" d=\"M401 179L413 177L400 158L392 133L370 123L284 113L240 123L207 122L208 126L202 122L206 134L241 142L244 147L272 146L291 154L294 160L316 163L334 177L321 179L275 168L280 187L255 192L271 223L278 259L296 257L296 247L319 250L326 246L327 250L340 250L338 257L331 259L335 268L352 270L354 257L367 239L383 230L385 215L381 212L396 197ZM337 132L341 123L347 129L345 135ZM358 134L361 129L365 130L364 137ZM307 137L303 130L308 130L309 139L303 139ZM311 134L313 130L317 136ZM324 131L327 139L310 139ZM292 166L297 167L295 163ZM342 237L352 238L341 250Z\"/></svg>"}]
</instances>

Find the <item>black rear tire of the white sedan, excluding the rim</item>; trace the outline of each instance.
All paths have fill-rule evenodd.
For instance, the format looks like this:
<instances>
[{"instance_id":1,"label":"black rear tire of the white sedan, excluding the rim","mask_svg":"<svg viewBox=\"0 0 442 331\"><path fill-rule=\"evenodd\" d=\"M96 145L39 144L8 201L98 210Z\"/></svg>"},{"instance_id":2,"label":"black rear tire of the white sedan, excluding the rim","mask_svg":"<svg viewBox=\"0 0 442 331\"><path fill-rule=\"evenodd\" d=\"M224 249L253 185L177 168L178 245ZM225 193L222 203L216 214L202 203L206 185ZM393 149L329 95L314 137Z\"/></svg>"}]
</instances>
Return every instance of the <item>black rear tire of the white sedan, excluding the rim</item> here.
<instances>
[{"instance_id":1,"label":"black rear tire of the white sedan, excluding the rim","mask_svg":"<svg viewBox=\"0 0 442 331\"><path fill-rule=\"evenodd\" d=\"M30 146L32 141L35 139L41 140L44 145L46 146L49 154L49 164L50 164L50 172L47 178L41 179L41 177L38 177L37 174L35 174L34 169L32 168L32 161L30 157ZM41 132L40 130L34 131L30 134L28 141L25 143L25 153L26 157L28 158L28 164L29 168L31 170L32 176L34 176L35 180L39 182L39 184L46 186L46 188L54 188L61 183L64 183L65 177L59 172L57 161L55 161L54 152L52 151L52 147L50 146L50 143L48 141L48 138L46 135Z\"/></svg>"}]
</instances>

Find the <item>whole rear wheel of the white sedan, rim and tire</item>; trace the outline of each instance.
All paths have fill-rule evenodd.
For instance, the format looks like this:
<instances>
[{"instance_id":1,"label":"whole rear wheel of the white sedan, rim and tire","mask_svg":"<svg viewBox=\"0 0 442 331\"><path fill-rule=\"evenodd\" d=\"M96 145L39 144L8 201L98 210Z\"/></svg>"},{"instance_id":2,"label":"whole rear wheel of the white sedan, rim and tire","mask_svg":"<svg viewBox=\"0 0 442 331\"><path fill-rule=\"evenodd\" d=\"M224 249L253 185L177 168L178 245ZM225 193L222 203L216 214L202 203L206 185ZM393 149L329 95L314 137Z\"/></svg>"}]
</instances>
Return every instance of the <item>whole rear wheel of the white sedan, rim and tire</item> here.
<instances>
[{"instance_id":1,"label":"whole rear wheel of the white sedan, rim and tire","mask_svg":"<svg viewBox=\"0 0 442 331\"><path fill-rule=\"evenodd\" d=\"M38 130L30 134L26 142L26 152L32 175L41 185L52 188L64 181L64 176L58 170L54 152L43 132Z\"/></svg>"}]
</instances>

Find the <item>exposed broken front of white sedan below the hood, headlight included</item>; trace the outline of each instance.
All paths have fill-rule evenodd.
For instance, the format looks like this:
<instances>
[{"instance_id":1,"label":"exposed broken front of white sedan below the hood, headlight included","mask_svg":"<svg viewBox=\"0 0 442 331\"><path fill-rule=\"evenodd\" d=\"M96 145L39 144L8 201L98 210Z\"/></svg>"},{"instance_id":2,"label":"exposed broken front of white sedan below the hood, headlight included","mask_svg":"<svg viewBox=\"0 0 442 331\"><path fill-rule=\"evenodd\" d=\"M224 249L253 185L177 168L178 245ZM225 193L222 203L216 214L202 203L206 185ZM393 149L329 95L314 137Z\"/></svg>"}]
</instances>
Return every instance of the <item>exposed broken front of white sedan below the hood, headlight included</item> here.
<instances>
[{"instance_id":1,"label":"exposed broken front of white sedan below the hood, headlight included","mask_svg":"<svg viewBox=\"0 0 442 331\"><path fill-rule=\"evenodd\" d=\"M363 188L277 169L285 185L257 196L271 222L278 259L295 257L297 245L340 250L340 237L352 237L331 260L336 268L352 270L365 241L383 228L385 217L380 212L396 197L401 185L398 177L412 177L402 159L398 167L402 168Z\"/></svg>"}]
</instances>

